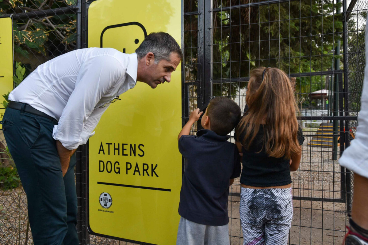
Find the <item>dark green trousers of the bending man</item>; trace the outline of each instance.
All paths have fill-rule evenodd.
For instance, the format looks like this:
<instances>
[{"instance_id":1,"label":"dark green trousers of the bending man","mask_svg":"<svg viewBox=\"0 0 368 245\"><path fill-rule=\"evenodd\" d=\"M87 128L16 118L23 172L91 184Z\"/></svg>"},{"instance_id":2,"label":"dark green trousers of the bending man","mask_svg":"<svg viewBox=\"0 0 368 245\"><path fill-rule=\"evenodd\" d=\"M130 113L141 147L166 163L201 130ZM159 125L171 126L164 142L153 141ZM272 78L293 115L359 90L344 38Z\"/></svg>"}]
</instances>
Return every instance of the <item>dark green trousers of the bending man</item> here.
<instances>
[{"instance_id":1,"label":"dark green trousers of the bending man","mask_svg":"<svg viewBox=\"0 0 368 245\"><path fill-rule=\"evenodd\" d=\"M63 177L52 137L57 122L7 108L3 132L28 199L35 245L78 245L75 155Z\"/></svg>"}]
</instances>

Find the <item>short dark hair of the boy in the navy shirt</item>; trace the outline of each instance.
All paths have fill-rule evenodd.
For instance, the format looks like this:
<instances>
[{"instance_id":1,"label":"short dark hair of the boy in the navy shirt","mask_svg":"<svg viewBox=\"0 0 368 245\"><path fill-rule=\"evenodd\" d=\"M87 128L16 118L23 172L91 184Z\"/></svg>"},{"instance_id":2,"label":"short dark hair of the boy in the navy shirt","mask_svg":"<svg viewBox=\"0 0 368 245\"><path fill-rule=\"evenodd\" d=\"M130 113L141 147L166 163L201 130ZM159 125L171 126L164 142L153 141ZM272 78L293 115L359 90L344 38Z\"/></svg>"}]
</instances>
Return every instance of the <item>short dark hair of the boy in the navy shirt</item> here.
<instances>
[{"instance_id":1,"label":"short dark hair of the boy in the navy shirt","mask_svg":"<svg viewBox=\"0 0 368 245\"><path fill-rule=\"evenodd\" d=\"M225 97L212 99L207 107L211 130L218 135L227 135L238 125L241 116L240 107Z\"/></svg>"}]
</instances>

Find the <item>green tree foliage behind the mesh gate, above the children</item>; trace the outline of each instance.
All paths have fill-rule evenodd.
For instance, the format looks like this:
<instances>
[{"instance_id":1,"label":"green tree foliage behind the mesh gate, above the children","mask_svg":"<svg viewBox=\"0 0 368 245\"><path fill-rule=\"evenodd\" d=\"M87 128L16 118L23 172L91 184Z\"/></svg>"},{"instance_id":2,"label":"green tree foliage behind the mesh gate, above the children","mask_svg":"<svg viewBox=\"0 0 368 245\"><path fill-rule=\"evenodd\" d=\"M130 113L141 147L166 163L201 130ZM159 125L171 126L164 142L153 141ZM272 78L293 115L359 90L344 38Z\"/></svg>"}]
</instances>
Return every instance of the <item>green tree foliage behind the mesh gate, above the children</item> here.
<instances>
[{"instance_id":1,"label":"green tree foliage behind the mesh gate, above the children","mask_svg":"<svg viewBox=\"0 0 368 245\"><path fill-rule=\"evenodd\" d=\"M258 3L213 0L213 8L250 2ZM184 1L184 12L195 12L197 5L197 1ZM247 78L254 66L279 67L287 73L330 70L336 42L342 41L342 14L336 14L341 7L332 0L300 0L213 12L213 79ZM186 15L184 30L196 29L197 15ZM197 33L184 33L185 47L197 46ZM191 52L185 64L196 64L198 48L185 51ZM185 79L197 79L196 65L186 66ZM215 96L235 96L246 84L217 83L213 92ZM301 101L324 87L325 76L296 79Z\"/></svg>"}]
</instances>

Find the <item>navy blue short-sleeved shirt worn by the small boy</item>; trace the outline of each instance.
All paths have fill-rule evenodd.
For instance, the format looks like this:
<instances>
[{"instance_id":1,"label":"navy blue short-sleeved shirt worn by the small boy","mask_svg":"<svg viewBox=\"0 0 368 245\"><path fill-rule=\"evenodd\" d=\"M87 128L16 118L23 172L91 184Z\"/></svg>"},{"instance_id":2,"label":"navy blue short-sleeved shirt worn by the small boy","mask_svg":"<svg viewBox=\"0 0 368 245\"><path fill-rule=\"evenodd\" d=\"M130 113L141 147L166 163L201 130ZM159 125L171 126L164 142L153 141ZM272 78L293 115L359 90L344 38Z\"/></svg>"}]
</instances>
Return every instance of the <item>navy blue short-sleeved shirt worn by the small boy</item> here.
<instances>
[{"instance_id":1,"label":"navy blue short-sleeved shirt worn by the small boy","mask_svg":"<svg viewBox=\"0 0 368 245\"><path fill-rule=\"evenodd\" d=\"M240 176L240 157L229 136L203 129L197 136L183 135L179 151L185 159L179 215L209 226L229 223L229 180Z\"/></svg>"}]
</instances>

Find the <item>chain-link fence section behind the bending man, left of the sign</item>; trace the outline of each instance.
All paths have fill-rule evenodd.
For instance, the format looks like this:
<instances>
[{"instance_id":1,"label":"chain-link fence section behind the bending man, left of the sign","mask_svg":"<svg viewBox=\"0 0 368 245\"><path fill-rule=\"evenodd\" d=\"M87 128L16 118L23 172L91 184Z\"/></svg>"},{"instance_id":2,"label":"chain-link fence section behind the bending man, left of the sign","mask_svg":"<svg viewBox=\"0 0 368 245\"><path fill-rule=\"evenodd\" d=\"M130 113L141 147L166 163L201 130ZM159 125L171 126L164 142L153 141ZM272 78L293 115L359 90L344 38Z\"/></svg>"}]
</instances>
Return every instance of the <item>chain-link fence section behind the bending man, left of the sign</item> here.
<instances>
[{"instance_id":1,"label":"chain-link fence section behind the bending man, left of the sign","mask_svg":"<svg viewBox=\"0 0 368 245\"><path fill-rule=\"evenodd\" d=\"M13 18L15 87L38 65L77 48L75 4L75 0L0 2L0 17ZM6 104L7 96L0 96ZM26 194L2 130L0 158L0 244L33 244Z\"/></svg>"}]
</instances>

